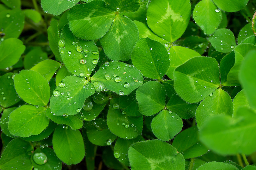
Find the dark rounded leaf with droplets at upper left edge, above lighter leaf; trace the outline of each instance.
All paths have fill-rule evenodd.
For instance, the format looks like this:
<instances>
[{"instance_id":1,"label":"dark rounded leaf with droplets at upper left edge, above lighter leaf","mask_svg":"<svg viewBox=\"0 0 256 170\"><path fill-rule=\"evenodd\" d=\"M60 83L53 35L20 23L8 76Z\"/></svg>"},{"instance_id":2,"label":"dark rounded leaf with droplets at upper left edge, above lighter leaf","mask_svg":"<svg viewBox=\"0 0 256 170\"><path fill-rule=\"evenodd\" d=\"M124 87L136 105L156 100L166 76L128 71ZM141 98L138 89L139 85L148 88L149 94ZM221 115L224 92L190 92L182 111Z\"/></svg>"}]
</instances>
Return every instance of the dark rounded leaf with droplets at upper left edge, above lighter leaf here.
<instances>
[{"instance_id":1,"label":"dark rounded leaf with droplets at upper left edge, above lighter leaf","mask_svg":"<svg viewBox=\"0 0 256 170\"><path fill-rule=\"evenodd\" d=\"M4 10L0 12L0 28L1 33L5 35L4 39L18 38L23 30L24 22L25 16L20 9ZM10 47L8 48L10 49ZM13 46L13 49L17 49L17 47ZM7 51L15 52L16 50Z\"/></svg>"}]
</instances>

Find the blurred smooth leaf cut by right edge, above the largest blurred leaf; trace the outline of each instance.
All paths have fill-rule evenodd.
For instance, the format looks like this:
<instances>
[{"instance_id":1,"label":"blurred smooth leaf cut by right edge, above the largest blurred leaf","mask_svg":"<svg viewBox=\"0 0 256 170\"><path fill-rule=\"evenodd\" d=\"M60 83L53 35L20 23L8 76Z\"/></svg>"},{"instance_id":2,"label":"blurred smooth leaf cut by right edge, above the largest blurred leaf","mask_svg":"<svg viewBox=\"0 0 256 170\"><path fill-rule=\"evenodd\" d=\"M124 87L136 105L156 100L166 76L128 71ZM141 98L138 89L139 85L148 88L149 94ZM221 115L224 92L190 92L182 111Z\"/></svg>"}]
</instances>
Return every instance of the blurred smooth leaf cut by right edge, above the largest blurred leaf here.
<instances>
[{"instance_id":1,"label":"blurred smooth leaf cut by right edge, above the largest blurred leaf","mask_svg":"<svg viewBox=\"0 0 256 170\"><path fill-rule=\"evenodd\" d=\"M256 50L250 51L241 64L239 72L239 80L244 88L244 93L253 108L256 108Z\"/></svg>"}]
</instances>

